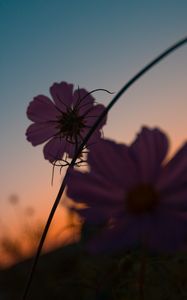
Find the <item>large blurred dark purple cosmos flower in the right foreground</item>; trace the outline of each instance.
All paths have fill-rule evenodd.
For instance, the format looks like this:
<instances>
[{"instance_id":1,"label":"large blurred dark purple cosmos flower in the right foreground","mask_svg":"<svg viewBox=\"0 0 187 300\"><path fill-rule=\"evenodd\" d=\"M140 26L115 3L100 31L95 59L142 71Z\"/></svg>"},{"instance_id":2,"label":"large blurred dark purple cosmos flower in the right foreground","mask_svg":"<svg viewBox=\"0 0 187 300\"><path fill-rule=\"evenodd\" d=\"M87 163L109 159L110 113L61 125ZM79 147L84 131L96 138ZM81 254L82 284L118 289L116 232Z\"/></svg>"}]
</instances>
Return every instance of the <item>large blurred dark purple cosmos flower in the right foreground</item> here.
<instances>
[{"instance_id":1,"label":"large blurred dark purple cosmos flower in the right foreground","mask_svg":"<svg viewBox=\"0 0 187 300\"><path fill-rule=\"evenodd\" d=\"M102 140L88 156L90 171L72 170L67 194L86 224L105 224L88 242L92 253L146 246L174 252L187 241L187 143L166 162L168 139L143 127L126 146Z\"/></svg>"}]
</instances>

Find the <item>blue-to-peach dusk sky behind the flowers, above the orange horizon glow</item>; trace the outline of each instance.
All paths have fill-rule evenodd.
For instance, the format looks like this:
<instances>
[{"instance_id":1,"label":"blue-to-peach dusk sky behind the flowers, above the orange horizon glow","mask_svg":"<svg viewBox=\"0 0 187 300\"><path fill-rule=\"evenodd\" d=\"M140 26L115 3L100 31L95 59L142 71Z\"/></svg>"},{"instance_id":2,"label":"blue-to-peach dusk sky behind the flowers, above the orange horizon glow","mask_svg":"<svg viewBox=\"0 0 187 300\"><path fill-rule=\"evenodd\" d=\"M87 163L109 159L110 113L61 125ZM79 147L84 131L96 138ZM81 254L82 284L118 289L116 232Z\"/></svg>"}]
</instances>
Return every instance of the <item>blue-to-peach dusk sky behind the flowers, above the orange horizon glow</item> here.
<instances>
[{"instance_id":1,"label":"blue-to-peach dusk sky behind the flowers, above the orange horizon glow","mask_svg":"<svg viewBox=\"0 0 187 300\"><path fill-rule=\"evenodd\" d=\"M61 177L42 146L25 139L25 111L54 82L117 92L140 68L187 35L186 0L0 0L1 218L20 197L47 216ZM111 96L98 92L98 102ZM124 95L108 116L105 137L130 142L159 126L172 150L187 137L187 46L167 57Z\"/></svg>"}]
</instances>

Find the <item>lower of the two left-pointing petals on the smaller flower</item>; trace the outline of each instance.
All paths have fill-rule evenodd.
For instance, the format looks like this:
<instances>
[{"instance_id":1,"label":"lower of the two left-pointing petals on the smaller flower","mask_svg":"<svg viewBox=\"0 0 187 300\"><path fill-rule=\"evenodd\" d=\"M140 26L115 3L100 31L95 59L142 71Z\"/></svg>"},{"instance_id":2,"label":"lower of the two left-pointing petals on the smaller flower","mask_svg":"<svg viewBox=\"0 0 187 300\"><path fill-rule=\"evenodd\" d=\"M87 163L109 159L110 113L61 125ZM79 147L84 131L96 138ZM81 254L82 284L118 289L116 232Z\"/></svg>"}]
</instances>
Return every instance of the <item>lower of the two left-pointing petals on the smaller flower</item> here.
<instances>
[{"instance_id":1,"label":"lower of the two left-pointing petals on the smaller flower","mask_svg":"<svg viewBox=\"0 0 187 300\"><path fill-rule=\"evenodd\" d=\"M34 123L26 131L26 137L33 146L46 142L57 132L55 123Z\"/></svg>"}]
</instances>

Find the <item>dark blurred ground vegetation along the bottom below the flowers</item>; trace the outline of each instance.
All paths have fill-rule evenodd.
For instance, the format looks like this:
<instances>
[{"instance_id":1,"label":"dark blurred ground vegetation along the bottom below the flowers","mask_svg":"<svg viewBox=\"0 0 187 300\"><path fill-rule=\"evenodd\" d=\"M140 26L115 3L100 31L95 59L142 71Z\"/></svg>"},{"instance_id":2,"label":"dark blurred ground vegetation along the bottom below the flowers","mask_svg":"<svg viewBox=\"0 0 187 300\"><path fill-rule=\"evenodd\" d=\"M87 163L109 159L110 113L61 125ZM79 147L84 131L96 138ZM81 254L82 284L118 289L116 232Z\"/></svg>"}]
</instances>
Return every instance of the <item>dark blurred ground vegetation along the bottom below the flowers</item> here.
<instances>
[{"instance_id":1,"label":"dark blurred ground vegetation along the bottom below the flowers","mask_svg":"<svg viewBox=\"0 0 187 300\"><path fill-rule=\"evenodd\" d=\"M0 299L21 299L32 260L0 272ZM81 243L41 256L28 299L182 300L187 299L186 253L147 256L140 297L138 250L91 256Z\"/></svg>"}]
</instances>

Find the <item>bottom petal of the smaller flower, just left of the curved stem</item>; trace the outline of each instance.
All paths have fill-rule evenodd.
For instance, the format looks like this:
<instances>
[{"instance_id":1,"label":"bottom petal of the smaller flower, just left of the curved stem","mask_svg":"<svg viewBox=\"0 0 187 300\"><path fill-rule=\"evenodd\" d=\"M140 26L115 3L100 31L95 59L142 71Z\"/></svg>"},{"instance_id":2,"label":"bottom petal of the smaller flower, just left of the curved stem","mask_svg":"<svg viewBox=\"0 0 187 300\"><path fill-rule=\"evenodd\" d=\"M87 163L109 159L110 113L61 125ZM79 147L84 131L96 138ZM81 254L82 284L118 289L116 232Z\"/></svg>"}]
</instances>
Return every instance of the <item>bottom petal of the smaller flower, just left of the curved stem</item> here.
<instances>
[{"instance_id":1,"label":"bottom petal of the smaller flower, just left of the curved stem","mask_svg":"<svg viewBox=\"0 0 187 300\"><path fill-rule=\"evenodd\" d=\"M66 141L64 139L60 139L59 137L55 137L44 146L44 157L50 162L61 160L65 153L65 148Z\"/></svg>"}]
</instances>

